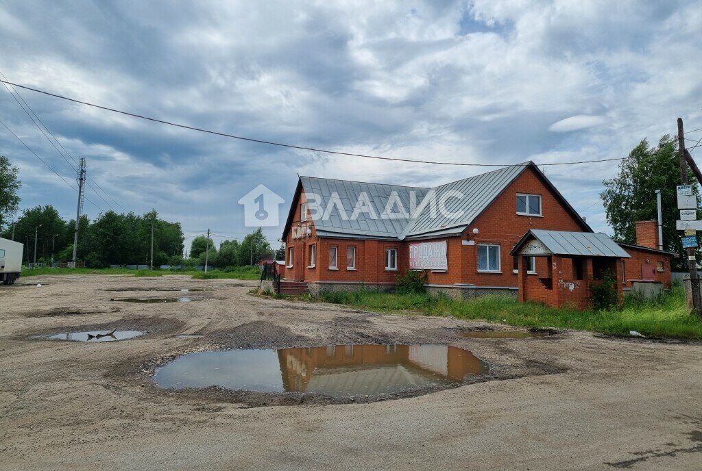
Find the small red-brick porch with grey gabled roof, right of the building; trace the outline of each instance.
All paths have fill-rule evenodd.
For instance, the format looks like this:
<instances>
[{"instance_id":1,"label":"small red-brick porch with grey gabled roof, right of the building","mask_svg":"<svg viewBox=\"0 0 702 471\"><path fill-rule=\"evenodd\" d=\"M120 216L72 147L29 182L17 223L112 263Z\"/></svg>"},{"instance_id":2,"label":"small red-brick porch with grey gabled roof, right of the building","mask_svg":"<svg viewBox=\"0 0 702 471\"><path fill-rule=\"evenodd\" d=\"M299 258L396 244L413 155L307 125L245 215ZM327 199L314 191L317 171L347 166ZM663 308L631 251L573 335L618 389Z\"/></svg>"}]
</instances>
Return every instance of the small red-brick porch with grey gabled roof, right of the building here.
<instances>
[{"instance_id":1,"label":"small red-brick porch with grey gabled roof, right of the building","mask_svg":"<svg viewBox=\"0 0 702 471\"><path fill-rule=\"evenodd\" d=\"M590 286L604 273L621 279L621 259L630 255L604 233L530 229L510 252L517 257L519 301L538 301L559 308L590 307ZM525 270L529 257L543 257L536 274ZM621 283L617 291L621 299Z\"/></svg>"}]
</instances>

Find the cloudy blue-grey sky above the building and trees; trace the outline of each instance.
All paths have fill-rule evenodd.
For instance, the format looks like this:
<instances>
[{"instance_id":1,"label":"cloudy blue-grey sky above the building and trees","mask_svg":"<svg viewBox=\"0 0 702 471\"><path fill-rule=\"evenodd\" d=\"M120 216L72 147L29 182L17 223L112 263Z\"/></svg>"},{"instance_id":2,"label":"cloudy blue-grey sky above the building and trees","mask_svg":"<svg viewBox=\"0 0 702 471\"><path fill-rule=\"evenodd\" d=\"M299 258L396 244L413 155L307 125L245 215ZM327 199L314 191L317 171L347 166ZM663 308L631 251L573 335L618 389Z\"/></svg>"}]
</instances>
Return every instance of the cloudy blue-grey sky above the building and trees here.
<instances>
[{"instance_id":1,"label":"cloudy blue-grey sky above the building and trees","mask_svg":"<svg viewBox=\"0 0 702 471\"><path fill-rule=\"evenodd\" d=\"M429 161L614 158L644 137L674 135L678 116L686 129L702 128L698 1L174 5L0 1L0 71L199 128ZM237 200L260 183L286 200L286 213L298 173L430 186L484 171L241 142L20 93L72 156L86 156L109 194L88 189L90 217L110 206L155 208L181 221L188 238L211 228L217 243L248 231ZM0 119L74 184L69 164L4 87ZM702 131L687 137L696 142ZM700 149L693 155L702 158ZM51 203L74 216L75 191L1 126L0 153L20 168L22 208ZM616 165L545 172L608 232L599 193ZM280 232L266 229L272 241Z\"/></svg>"}]
</instances>

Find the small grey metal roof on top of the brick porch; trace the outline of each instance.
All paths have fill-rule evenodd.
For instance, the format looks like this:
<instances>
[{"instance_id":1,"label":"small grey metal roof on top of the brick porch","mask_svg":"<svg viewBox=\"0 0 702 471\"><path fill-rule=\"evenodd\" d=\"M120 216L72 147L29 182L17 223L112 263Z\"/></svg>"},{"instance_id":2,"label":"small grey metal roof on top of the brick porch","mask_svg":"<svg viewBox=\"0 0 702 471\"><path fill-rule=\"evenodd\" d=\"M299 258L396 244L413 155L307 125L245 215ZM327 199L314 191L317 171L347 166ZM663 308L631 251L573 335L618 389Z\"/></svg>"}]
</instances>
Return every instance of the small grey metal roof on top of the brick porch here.
<instances>
[{"instance_id":1,"label":"small grey metal roof on top of the brick porch","mask_svg":"<svg viewBox=\"0 0 702 471\"><path fill-rule=\"evenodd\" d=\"M614 240L611 240L607 234L601 232L545 231L544 229L529 230L510 253L515 254L519 252L522 245L529 240L529 235L533 235L534 238L555 255L631 258L626 250Z\"/></svg>"}]
</instances>

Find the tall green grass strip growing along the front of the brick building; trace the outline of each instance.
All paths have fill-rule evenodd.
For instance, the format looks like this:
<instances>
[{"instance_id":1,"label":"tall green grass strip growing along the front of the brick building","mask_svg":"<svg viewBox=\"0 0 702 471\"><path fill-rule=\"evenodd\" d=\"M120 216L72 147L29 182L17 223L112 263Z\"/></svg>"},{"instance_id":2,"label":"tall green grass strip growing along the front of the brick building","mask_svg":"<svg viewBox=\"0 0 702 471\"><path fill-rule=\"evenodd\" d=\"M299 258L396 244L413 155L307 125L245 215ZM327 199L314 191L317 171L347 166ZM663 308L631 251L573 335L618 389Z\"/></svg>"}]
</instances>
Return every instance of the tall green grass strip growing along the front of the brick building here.
<instances>
[{"instance_id":1,"label":"tall green grass strip growing along the front of the brick building","mask_svg":"<svg viewBox=\"0 0 702 471\"><path fill-rule=\"evenodd\" d=\"M685 309L684 292L680 287L654 301L639 301L627 296L623 308L600 311L555 309L534 302L519 303L510 296L459 300L445 295L359 290L325 293L321 298L329 303L383 313L453 315L521 327L559 327L619 335L628 335L629 331L635 330L645 336L702 339L702 321Z\"/></svg>"}]
</instances>

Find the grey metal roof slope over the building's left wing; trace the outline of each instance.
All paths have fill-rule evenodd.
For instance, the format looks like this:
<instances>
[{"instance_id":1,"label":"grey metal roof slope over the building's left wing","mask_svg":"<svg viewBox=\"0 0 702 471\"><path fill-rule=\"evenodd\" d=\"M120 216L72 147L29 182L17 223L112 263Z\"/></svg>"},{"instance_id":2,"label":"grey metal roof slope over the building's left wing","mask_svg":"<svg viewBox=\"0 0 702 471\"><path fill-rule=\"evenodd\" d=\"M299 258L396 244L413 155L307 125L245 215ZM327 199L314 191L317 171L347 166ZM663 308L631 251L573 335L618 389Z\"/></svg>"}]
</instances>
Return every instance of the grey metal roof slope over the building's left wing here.
<instances>
[{"instance_id":1,"label":"grey metal roof slope over the building's left wing","mask_svg":"<svg viewBox=\"0 0 702 471\"><path fill-rule=\"evenodd\" d=\"M347 214L347 219L345 219L340 214L338 207L334 206L329 213L329 218L314 219L317 235L348 234L365 237L397 238L409 222L409 219L381 217L393 192L397 195L402 206L409 209L412 192L414 192L416 204L419 204L428 191L426 188L417 186L348 182L346 180L314 177L300 177L300 182L302 182L306 195L314 193L322 198L320 210L326 211L325 205L329 204L329 200L336 193ZM370 217L369 214L364 212L359 213L355 219L351 217L362 194L368 197L377 217ZM397 207L393 205L390 211L396 212Z\"/></svg>"}]
</instances>

